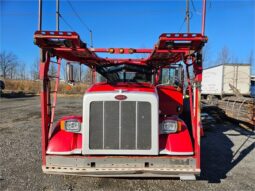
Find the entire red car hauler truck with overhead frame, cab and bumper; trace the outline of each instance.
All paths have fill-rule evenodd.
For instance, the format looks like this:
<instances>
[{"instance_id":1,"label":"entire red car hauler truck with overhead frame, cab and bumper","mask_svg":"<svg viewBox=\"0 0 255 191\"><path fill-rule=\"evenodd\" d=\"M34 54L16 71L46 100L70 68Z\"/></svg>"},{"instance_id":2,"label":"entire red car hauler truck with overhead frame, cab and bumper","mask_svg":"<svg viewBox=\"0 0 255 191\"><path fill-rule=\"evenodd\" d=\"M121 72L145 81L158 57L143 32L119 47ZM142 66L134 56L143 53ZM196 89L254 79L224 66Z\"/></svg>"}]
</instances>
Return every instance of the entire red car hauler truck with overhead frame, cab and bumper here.
<instances>
[{"instance_id":1,"label":"entire red car hauler truck with overhead frame, cab and bumper","mask_svg":"<svg viewBox=\"0 0 255 191\"><path fill-rule=\"evenodd\" d=\"M87 48L75 32L36 31L41 48L42 169L83 176L180 177L200 173L202 33L164 33L152 49ZM147 53L144 59L101 58ZM56 58L56 61L52 61ZM83 113L54 122L61 60L85 64L104 82L84 94ZM57 64L56 76L48 74ZM184 79L186 67L187 78ZM194 79L189 78L193 69ZM55 79L51 90L51 79ZM188 82L190 110L183 104ZM191 119L188 129L187 119Z\"/></svg>"}]
</instances>

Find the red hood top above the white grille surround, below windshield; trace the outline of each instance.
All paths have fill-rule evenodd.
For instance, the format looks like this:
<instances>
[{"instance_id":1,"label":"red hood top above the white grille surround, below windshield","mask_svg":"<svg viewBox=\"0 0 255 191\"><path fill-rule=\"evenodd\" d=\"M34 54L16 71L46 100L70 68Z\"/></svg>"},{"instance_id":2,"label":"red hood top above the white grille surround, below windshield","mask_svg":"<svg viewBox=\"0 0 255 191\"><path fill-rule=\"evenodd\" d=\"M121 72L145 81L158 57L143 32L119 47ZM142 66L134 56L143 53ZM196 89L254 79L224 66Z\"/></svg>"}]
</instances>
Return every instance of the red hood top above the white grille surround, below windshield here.
<instances>
[{"instance_id":1,"label":"red hood top above the white grille surround, below windshield","mask_svg":"<svg viewBox=\"0 0 255 191\"><path fill-rule=\"evenodd\" d=\"M156 93L156 88L150 83L114 83L109 84L106 82L96 83L92 85L86 93L95 93L95 92L109 92L109 91L127 91L127 92L148 92Z\"/></svg>"}]
</instances>

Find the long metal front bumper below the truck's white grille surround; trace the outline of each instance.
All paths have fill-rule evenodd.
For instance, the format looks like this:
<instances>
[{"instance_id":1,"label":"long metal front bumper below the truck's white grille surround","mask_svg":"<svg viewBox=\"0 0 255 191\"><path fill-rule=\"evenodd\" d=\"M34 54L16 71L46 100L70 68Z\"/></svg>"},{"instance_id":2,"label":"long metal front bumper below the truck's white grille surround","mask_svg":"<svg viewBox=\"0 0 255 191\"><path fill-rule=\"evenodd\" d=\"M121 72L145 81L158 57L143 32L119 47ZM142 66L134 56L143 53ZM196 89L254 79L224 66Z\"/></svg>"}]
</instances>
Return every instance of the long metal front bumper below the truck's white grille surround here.
<instances>
[{"instance_id":1,"label":"long metal front bumper below the truck's white grille surround","mask_svg":"<svg viewBox=\"0 0 255 191\"><path fill-rule=\"evenodd\" d=\"M47 156L43 171L96 177L180 177L200 174L194 158Z\"/></svg>"}]
</instances>

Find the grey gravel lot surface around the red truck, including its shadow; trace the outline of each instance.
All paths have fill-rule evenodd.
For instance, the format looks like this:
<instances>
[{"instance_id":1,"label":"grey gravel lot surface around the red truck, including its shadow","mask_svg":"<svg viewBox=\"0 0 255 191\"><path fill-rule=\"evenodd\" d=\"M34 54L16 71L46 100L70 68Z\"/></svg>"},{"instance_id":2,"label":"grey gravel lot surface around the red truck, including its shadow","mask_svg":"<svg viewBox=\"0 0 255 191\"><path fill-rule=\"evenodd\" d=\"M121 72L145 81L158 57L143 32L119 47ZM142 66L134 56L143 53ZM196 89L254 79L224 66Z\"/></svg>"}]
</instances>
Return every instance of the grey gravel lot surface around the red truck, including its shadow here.
<instances>
[{"instance_id":1,"label":"grey gravel lot surface around the red truck, including its shadow","mask_svg":"<svg viewBox=\"0 0 255 191\"><path fill-rule=\"evenodd\" d=\"M80 114L82 98L60 98L57 116ZM197 181L90 178L41 171L39 97L0 99L0 190L255 190L255 134L224 121L202 138Z\"/></svg>"}]
</instances>

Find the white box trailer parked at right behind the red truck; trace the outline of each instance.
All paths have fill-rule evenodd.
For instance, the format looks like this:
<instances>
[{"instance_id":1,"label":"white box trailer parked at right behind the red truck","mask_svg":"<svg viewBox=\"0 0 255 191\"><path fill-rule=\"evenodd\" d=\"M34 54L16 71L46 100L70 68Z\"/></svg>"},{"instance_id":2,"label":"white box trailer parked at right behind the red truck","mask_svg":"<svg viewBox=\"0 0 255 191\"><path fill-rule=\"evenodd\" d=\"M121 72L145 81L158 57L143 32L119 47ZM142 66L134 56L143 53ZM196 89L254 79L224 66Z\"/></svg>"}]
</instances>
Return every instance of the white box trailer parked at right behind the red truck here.
<instances>
[{"instance_id":1,"label":"white box trailer parked at right behind the red truck","mask_svg":"<svg viewBox=\"0 0 255 191\"><path fill-rule=\"evenodd\" d=\"M249 64L222 64L203 70L202 95L234 95L236 88L242 95L250 96L251 66Z\"/></svg>"}]
</instances>

